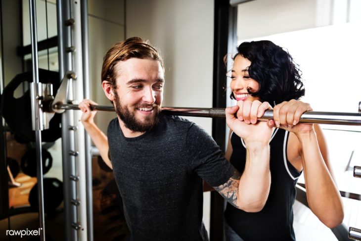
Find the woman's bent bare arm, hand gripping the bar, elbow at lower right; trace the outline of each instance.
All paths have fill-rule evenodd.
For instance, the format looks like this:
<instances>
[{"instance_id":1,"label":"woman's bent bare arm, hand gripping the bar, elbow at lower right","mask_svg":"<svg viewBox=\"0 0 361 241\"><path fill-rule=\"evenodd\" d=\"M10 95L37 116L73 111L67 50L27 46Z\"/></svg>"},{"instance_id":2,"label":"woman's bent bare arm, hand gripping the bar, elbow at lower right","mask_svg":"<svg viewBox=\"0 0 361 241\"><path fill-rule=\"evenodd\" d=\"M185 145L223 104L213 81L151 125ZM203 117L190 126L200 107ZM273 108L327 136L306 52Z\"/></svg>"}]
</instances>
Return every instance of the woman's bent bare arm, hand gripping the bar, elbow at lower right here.
<instances>
[{"instance_id":1,"label":"woman's bent bare arm, hand gripping the bar, elbow at lower right","mask_svg":"<svg viewBox=\"0 0 361 241\"><path fill-rule=\"evenodd\" d=\"M296 135L299 142L296 150L302 161L308 204L323 224L333 228L343 221L343 204L331 175L327 147L320 128L298 123L300 116L308 110L312 110L311 106L302 101L285 101L274 107L273 117L276 125Z\"/></svg>"}]
</instances>

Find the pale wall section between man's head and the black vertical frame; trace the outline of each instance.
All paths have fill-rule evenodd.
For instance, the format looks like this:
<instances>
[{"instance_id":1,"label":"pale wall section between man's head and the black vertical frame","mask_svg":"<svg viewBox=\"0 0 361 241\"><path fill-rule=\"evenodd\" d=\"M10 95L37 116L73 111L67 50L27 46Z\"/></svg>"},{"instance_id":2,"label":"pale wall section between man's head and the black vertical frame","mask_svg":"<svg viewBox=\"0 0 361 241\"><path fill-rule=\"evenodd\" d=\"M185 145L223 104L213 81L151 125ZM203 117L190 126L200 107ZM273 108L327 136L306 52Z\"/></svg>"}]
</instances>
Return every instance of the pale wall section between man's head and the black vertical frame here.
<instances>
[{"instance_id":1,"label":"pale wall section between man's head and the black vertical frame","mask_svg":"<svg viewBox=\"0 0 361 241\"><path fill-rule=\"evenodd\" d=\"M214 3L210 0L127 0L126 37L160 48L165 64L164 106L212 107ZM187 118L209 134L212 120ZM209 230L210 193L203 217Z\"/></svg>"}]
</instances>

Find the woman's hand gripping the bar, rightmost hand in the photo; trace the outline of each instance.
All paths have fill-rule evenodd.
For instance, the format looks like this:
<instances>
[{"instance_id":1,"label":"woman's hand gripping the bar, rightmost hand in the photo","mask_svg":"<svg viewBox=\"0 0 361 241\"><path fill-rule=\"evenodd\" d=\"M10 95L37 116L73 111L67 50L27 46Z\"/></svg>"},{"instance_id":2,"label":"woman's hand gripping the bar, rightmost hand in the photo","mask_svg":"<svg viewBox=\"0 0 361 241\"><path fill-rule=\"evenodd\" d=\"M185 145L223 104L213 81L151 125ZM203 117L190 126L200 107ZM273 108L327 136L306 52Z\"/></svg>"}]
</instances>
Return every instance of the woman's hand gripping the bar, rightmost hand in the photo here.
<instances>
[{"instance_id":1,"label":"woman's hand gripping the bar, rightmost hand in the photo","mask_svg":"<svg viewBox=\"0 0 361 241\"><path fill-rule=\"evenodd\" d=\"M283 101L273 108L273 120L276 127L285 129L289 132L304 133L313 130L314 124L299 123L301 115L306 111L312 111L309 103L300 100L291 99Z\"/></svg>"}]
</instances>

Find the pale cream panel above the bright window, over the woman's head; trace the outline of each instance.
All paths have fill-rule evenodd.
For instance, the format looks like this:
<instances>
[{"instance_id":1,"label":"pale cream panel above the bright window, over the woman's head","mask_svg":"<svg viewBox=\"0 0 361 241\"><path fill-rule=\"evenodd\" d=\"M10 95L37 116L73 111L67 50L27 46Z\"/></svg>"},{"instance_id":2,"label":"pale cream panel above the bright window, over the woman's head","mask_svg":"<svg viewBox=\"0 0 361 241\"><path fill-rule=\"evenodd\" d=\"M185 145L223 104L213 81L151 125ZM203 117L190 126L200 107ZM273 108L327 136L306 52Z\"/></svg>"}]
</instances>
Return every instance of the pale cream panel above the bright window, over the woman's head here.
<instances>
[{"instance_id":1,"label":"pale cream panel above the bright window, over the woman's head","mask_svg":"<svg viewBox=\"0 0 361 241\"><path fill-rule=\"evenodd\" d=\"M237 37L251 39L361 20L360 0L252 0L238 4Z\"/></svg>"}]
</instances>

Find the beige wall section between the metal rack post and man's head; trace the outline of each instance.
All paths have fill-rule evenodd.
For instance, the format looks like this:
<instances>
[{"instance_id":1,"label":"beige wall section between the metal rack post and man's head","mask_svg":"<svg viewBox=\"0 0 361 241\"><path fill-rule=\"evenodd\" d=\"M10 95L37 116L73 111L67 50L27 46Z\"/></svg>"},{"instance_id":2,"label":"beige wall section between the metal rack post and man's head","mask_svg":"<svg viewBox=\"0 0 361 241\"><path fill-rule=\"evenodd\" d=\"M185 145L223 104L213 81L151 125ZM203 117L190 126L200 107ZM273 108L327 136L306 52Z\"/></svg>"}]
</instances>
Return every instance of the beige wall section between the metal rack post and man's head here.
<instances>
[{"instance_id":1,"label":"beige wall section between the metal rack post and man's head","mask_svg":"<svg viewBox=\"0 0 361 241\"><path fill-rule=\"evenodd\" d=\"M90 98L101 105L110 105L101 88L103 56L116 42L125 39L124 0L89 0L89 78ZM115 112L97 113L95 122L106 133Z\"/></svg>"}]
</instances>

